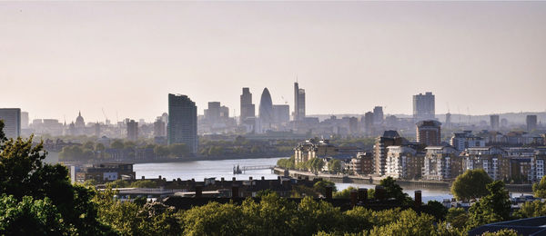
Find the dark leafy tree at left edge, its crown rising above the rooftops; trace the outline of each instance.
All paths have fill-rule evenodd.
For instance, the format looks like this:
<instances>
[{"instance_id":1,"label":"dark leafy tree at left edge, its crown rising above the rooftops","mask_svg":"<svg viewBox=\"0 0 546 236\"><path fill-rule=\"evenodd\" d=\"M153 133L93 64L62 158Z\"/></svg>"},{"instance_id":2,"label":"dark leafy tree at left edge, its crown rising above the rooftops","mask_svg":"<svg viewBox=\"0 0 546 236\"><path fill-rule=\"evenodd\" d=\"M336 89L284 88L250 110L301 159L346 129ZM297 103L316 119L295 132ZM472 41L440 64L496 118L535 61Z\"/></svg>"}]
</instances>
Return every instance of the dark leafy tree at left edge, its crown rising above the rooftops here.
<instances>
[{"instance_id":1,"label":"dark leafy tree at left edge, its crown rising above the rooftops","mask_svg":"<svg viewBox=\"0 0 546 236\"><path fill-rule=\"evenodd\" d=\"M17 201L24 201L25 196L49 199L74 234L106 233L108 229L97 221L96 205L91 202L95 192L72 185L65 166L44 164L47 152L43 143L33 145L32 141L33 136L0 143L0 192L13 195ZM53 211L44 212L50 213Z\"/></svg>"}]
</instances>

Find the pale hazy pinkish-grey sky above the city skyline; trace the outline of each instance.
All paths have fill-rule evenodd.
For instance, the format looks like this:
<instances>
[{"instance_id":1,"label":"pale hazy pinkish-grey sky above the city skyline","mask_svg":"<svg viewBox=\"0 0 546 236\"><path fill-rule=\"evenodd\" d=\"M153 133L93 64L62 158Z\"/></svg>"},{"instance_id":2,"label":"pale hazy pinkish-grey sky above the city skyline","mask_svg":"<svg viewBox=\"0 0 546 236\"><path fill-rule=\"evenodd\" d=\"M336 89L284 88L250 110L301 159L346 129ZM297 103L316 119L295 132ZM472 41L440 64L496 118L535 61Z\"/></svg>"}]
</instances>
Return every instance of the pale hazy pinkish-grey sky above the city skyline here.
<instances>
[{"instance_id":1,"label":"pale hazy pinkish-grey sky above the city skyline","mask_svg":"<svg viewBox=\"0 0 546 236\"><path fill-rule=\"evenodd\" d=\"M546 2L0 3L0 107L152 121L167 93L239 113L306 89L307 113L546 110ZM283 99L284 97L284 99ZM467 110L468 107L468 110Z\"/></svg>"}]
</instances>

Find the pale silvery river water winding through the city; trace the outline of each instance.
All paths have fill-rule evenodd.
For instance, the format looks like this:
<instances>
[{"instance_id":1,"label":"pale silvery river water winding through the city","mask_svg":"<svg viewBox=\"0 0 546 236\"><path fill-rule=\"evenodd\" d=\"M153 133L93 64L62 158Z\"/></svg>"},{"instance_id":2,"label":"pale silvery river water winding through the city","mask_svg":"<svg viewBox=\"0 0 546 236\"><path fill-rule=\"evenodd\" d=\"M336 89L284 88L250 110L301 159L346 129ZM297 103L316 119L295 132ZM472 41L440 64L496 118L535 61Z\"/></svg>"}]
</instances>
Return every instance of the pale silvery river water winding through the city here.
<instances>
[{"instance_id":1,"label":"pale silvery river water winding through the city","mask_svg":"<svg viewBox=\"0 0 546 236\"><path fill-rule=\"evenodd\" d=\"M236 177L238 180L248 180L248 177L259 179L264 176L267 180L277 179L277 174L270 170L255 170L247 171L242 174L233 174L233 167L257 166L257 165L275 165L280 158L257 158L257 159L239 159L239 160L221 160L221 161L197 161L197 162L164 162L164 163L137 163L133 169L136 172L136 178L145 176L146 178L157 178L161 175L162 178L173 180L180 178L181 180L203 181L205 178L216 177L219 180L221 177L226 180L231 180ZM359 183L336 183L338 191L344 190L349 186L356 188L374 188L372 184ZM411 197L416 189L404 189ZM423 202L436 200L441 202L443 199L450 199L449 190L427 190L420 189L422 192Z\"/></svg>"}]
</instances>

